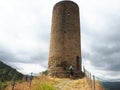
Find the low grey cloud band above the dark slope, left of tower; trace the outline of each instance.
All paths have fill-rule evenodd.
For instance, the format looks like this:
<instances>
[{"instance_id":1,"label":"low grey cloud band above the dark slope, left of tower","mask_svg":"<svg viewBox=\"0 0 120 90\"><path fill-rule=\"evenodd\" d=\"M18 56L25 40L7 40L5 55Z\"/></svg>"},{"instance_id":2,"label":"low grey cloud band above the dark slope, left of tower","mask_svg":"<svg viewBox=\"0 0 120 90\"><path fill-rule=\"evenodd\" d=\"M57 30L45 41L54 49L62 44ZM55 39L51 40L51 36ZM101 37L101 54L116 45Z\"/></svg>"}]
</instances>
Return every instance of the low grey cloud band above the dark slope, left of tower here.
<instances>
[{"instance_id":1,"label":"low grey cloud band above the dark slope, left of tower","mask_svg":"<svg viewBox=\"0 0 120 90\"><path fill-rule=\"evenodd\" d=\"M21 57L17 57L20 55ZM39 64L43 67L47 67L47 59L48 53L46 51L36 51L34 53L28 53L25 51L19 52L19 53L13 53L12 51L0 48L0 60L5 62L8 65L11 65L15 67L16 69L17 65L14 65L14 63L32 63L32 64Z\"/></svg>"}]
</instances>

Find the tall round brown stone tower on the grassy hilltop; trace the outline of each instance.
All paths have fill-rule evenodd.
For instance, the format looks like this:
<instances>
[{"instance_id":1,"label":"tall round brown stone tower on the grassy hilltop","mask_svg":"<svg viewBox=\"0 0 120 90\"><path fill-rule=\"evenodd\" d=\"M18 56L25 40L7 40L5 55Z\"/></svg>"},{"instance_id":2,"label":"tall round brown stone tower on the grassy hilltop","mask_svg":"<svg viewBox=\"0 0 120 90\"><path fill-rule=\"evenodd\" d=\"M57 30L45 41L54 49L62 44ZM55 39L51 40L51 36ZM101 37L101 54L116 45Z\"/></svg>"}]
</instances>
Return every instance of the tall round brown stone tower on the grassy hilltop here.
<instances>
[{"instance_id":1,"label":"tall round brown stone tower on the grassy hilltop","mask_svg":"<svg viewBox=\"0 0 120 90\"><path fill-rule=\"evenodd\" d=\"M68 77L69 66L81 75L81 41L79 7L73 1L55 4L52 16L52 30L48 72L51 76Z\"/></svg>"}]
</instances>

